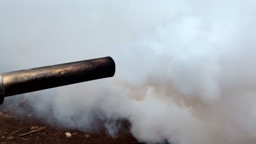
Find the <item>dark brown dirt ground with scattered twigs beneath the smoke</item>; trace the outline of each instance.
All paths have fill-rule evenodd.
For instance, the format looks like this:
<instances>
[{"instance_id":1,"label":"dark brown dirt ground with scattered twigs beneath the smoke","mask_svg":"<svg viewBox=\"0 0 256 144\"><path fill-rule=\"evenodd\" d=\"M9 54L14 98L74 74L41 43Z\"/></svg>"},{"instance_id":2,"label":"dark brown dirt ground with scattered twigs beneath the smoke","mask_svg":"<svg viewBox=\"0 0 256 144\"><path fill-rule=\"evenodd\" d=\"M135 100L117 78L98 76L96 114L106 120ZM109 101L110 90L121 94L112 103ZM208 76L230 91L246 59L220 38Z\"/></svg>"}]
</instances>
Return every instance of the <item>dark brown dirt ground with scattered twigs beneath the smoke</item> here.
<instances>
[{"instance_id":1,"label":"dark brown dirt ground with scattered twigs beneath the smoke","mask_svg":"<svg viewBox=\"0 0 256 144\"><path fill-rule=\"evenodd\" d=\"M26 101L22 102L24 105ZM21 104L19 104L21 105ZM51 127L25 113L24 117L15 115L13 107L0 106L0 144L1 143L139 143L129 132L130 123L121 122L122 130L112 137L102 126L93 132L60 129ZM67 137L65 133L72 136Z\"/></svg>"}]
</instances>

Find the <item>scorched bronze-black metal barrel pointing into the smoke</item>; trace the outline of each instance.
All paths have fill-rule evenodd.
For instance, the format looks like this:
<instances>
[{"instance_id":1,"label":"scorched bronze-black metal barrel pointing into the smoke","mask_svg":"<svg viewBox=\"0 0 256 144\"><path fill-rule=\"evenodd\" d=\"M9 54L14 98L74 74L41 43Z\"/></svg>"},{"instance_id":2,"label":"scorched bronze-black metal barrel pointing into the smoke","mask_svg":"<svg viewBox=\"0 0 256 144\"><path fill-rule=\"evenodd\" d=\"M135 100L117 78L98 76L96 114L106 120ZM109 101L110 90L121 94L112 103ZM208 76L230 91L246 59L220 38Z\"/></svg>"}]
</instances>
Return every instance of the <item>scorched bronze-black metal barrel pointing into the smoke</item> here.
<instances>
[{"instance_id":1,"label":"scorched bronze-black metal barrel pointing into the smoke","mask_svg":"<svg viewBox=\"0 0 256 144\"><path fill-rule=\"evenodd\" d=\"M112 77L115 62L111 57L51 65L0 74L0 104L4 97L43 89Z\"/></svg>"}]
</instances>

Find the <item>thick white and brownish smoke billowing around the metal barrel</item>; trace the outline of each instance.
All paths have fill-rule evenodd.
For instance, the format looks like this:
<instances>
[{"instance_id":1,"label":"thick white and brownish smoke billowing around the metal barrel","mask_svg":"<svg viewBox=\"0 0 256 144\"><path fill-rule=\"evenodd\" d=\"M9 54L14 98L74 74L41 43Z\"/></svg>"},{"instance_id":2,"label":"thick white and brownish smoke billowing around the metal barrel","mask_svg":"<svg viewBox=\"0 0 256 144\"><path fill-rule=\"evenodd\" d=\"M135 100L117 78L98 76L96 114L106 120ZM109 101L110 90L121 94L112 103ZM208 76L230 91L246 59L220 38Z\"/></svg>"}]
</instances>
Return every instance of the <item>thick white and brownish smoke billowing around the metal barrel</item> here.
<instances>
[{"instance_id":1,"label":"thick white and brownish smoke billowing around the metal barrel","mask_svg":"<svg viewBox=\"0 0 256 144\"><path fill-rule=\"evenodd\" d=\"M28 94L37 115L82 130L126 118L146 142L254 143L255 4L3 0L0 72L112 56L113 78Z\"/></svg>"}]
</instances>

